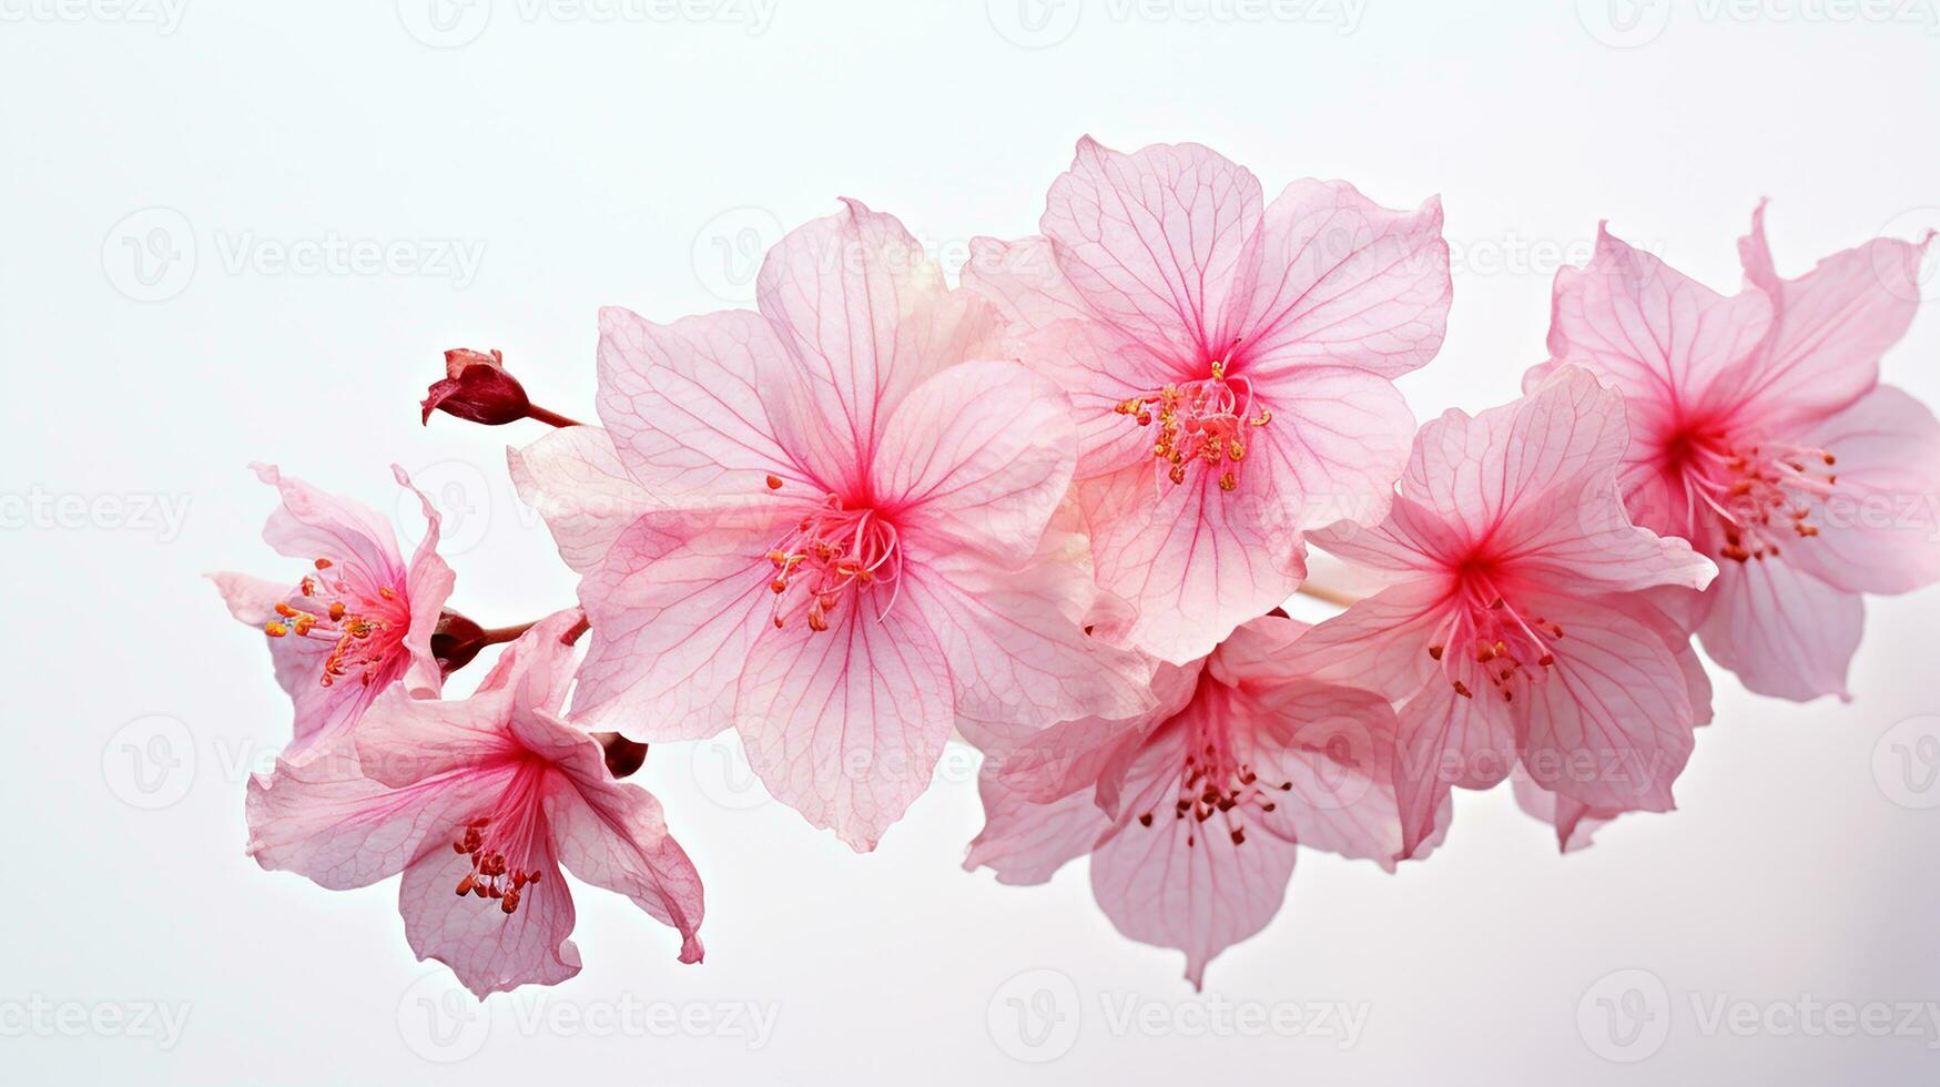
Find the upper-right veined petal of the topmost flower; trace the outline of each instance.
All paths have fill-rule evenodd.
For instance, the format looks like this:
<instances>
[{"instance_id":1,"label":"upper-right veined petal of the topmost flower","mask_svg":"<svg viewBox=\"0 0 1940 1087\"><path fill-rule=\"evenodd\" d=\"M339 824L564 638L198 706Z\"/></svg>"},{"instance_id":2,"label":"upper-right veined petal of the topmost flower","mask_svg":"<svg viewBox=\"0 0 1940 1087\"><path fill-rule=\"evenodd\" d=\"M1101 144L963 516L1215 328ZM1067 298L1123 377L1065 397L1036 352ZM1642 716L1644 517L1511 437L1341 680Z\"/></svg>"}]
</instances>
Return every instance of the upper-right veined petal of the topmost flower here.
<instances>
[{"instance_id":1,"label":"upper-right veined petal of the topmost flower","mask_svg":"<svg viewBox=\"0 0 1940 1087\"><path fill-rule=\"evenodd\" d=\"M1257 248L1257 280L1232 301L1255 380L1308 365L1393 379L1441 347L1441 200L1395 212L1344 181L1296 181L1267 206Z\"/></svg>"}]
</instances>

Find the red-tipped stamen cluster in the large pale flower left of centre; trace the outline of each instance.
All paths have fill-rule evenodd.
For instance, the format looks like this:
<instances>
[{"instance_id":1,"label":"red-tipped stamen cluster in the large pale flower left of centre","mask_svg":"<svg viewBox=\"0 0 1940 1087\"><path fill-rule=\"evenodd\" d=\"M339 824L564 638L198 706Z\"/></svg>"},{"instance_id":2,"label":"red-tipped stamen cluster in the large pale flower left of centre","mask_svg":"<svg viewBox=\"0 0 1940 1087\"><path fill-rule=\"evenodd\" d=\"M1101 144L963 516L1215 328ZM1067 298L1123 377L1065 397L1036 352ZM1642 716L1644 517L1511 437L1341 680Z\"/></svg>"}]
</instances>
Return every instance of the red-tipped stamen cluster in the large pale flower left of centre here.
<instances>
[{"instance_id":1,"label":"red-tipped stamen cluster in the large pale flower left of centre","mask_svg":"<svg viewBox=\"0 0 1940 1087\"><path fill-rule=\"evenodd\" d=\"M790 613L805 611L811 631L826 631L844 598L892 586L902 576L896 526L873 509L846 509L836 495L803 514L768 551L768 561L774 563L768 588L774 590L776 629L788 625ZM894 604L890 594L879 613Z\"/></svg>"}]
</instances>

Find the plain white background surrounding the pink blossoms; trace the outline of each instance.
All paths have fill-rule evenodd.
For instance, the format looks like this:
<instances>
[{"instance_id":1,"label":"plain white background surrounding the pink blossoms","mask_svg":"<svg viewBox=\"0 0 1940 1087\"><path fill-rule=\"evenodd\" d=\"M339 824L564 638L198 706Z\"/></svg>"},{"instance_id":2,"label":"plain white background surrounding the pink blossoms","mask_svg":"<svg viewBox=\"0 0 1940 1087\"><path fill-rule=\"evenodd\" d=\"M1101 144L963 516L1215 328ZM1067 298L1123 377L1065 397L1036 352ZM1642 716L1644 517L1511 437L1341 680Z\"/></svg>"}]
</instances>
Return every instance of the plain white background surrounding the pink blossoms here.
<instances>
[{"instance_id":1,"label":"plain white background surrounding the pink blossoms","mask_svg":"<svg viewBox=\"0 0 1940 1087\"><path fill-rule=\"evenodd\" d=\"M1849 707L1721 679L1682 809L1589 852L1558 858L1492 794L1395 877L1306 854L1203 996L1178 953L1112 930L1083 866L1036 889L960 872L962 753L854 856L726 774L724 747L656 749L642 780L706 877L706 963L582 891L584 974L489 1011L411 959L394 883L258 872L242 782L289 707L198 578L293 576L244 464L386 509L402 462L450 511L454 604L535 617L572 590L504 481L504 443L535 431L421 429L440 349L502 347L584 413L596 307L735 305L749 254L838 194L960 260L970 235L1032 231L1084 132L1211 144L1269 194L1306 175L1397 206L1439 192L1455 311L1405 382L1422 417L1513 396L1599 217L1721 289L1762 194L1793 274L1940 225L1924 0L1620 4L1628 33L1600 0L650 2L0 0L0 1077L1932 1081L1926 1019L1835 1038L1785 1009L1940 1000L1940 809L1921 807L1940 788L1899 774L1940 769L1919 743L1940 734L1921 720L1936 590L1872 604ZM307 264L334 243L390 262ZM1928 305L1888 380L1940 402L1936 355ZM186 514L138 514L151 501ZM1719 1000L1760 1023L1707 1027ZM1335 1002L1366 1015L1352 1044L1337 1021L1220 1037L1201 1015ZM687 1027L660 1037L656 1004ZM113 1019L159 1005L186 1007L173 1046ZM772 1033L729 1023L741 1005Z\"/></svg>"}]
</instances>

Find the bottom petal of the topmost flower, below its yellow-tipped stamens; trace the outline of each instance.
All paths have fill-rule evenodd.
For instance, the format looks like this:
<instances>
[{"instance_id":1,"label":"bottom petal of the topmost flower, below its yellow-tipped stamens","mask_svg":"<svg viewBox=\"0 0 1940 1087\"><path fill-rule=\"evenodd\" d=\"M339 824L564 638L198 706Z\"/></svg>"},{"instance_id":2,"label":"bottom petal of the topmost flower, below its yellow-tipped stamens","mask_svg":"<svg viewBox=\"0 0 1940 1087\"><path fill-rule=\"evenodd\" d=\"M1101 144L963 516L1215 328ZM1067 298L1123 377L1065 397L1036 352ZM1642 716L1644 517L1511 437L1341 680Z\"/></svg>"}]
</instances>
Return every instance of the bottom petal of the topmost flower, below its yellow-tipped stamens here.
<instances>
[{"instance_id":1,"label":"bottom petal of the topmost flower, below its yellow-tipped stamens","mask_svg":"<svg viewBox=\"0 0 1940 1087\"><path fill-rule=\"evenodd\" d=\"M1306 576L1306 547L1267 472L1240 472L1238 489L1220 491L1211 472L1176 485L1147 460L1075 491L1098 584L1137 609L1125 644L1160 660L1207 656Z\"/></svg>"}]
</instances>

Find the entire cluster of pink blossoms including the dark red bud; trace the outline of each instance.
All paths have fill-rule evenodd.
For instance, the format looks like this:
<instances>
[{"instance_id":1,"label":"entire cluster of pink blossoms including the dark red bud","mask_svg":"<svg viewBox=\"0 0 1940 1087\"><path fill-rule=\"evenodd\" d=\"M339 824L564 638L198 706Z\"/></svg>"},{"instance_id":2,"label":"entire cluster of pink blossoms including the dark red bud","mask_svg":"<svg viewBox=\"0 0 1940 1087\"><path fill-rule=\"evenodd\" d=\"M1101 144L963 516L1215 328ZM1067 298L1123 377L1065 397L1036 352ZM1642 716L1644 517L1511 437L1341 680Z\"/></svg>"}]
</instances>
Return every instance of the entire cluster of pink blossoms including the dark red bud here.
<instances>
[{"instance_id":1,"label":"entire cluster of pink blossoms including the dark red bud","mask_svg":"<svg viewBox=\"0 0 1940 1087\"><path fill-rule=\"evenodd\" d=\"M735 730L774 798L871 850L960 738L968 866L1090 854L1112 922L1199 984L1298 846L1420 860L1457 786L1513 778L1562 848L1666 811L1711 716L1694 639L1754 691L1845 697L1860 596L1940 578L1940 425L1878 380L1930 239L1787 280L1762 212L1732 297L1602 233L1523 398L1422 427L1393 382L1441 347L1439 204L1269 202L1191 144L1081 142L1042 235L978 239L956 287L850 200L766 254L755 311L607 309L599 425L450 351L427 419L553 427L510 476L578 602L479 627L431 503L405 561L258 468L299 578L215 576L295 703L250 852L402 873L411 947L479 996L578 971L561 868L693 963L700 877L623 782L646 745ZM1375 592L1288 617L1310 544Z\"/></svg>"}]
</instances>

